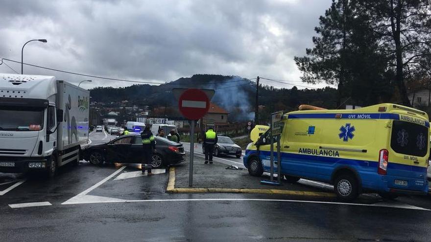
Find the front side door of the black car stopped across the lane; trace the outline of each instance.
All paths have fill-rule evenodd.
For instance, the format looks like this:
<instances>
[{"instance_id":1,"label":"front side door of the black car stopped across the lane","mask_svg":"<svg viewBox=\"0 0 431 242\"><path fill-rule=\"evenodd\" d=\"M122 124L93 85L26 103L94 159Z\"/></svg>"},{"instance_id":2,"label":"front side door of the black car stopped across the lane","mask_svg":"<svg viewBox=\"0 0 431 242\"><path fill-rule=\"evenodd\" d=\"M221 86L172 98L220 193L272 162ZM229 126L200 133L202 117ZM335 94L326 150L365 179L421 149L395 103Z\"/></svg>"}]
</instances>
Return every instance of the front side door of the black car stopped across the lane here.
<instances>
[{"instance_id":1,"label":"front side door of the black car stopped across the lane","mask_svg":"<svg viewBox=\"0 0 431 242\"><path fill-rule=\"evenodd\" d=\"M120 137L107 145L109 160L120 163L133 163L130 161L130 150L133 136Z\"/></svg>"}]
</instances>

